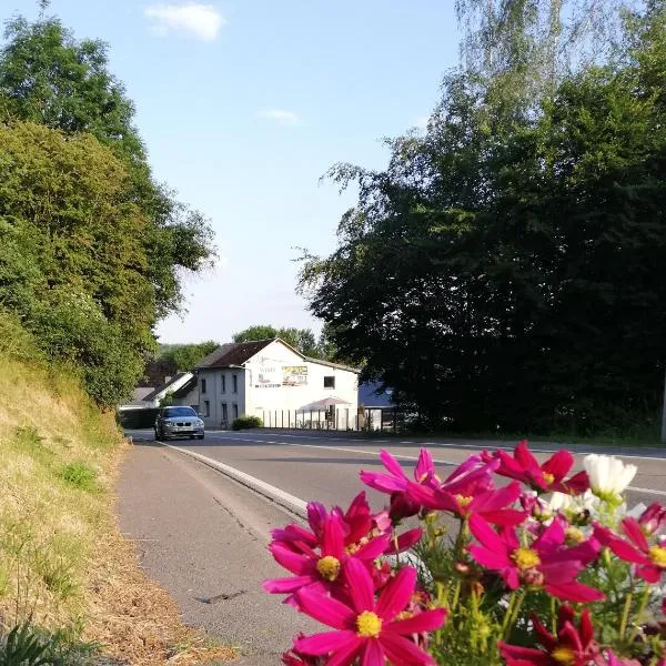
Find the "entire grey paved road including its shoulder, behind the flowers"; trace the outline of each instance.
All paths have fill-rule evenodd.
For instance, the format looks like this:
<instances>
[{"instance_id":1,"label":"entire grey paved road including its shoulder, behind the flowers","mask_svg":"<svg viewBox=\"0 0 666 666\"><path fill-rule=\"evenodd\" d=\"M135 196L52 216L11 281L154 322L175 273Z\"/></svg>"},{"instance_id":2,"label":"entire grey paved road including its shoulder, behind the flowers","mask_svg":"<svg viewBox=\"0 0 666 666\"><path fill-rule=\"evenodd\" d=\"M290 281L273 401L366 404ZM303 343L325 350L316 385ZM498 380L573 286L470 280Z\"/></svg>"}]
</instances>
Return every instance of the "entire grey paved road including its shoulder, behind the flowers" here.
<instances>
[{"instance_id":1,"label":"entire grey paved road including its shoulder, behind the flowers","mask_svg":"<svg viewBox=\"0 0 666 666\"><path fill-rule=\"evenodd\" d=\"M264 595L261 581L281 575L265 551L269 531L293 516L275 504L183 453L152 441L150 431L128 431L137 442L119 488L123 532L139 539L142 564L176 598L186 622L241 646L239 664L279 663L296 630L311 630L302 616ZM296 501L346 505L362 490L359 471L380 470L379 452L387 448L406 467L414 465L418 440L363 438L332 433L213 431L200 441L171 442L283 491ZM428 444L442 475L483 447L502 443L437 441ZM513 443L506 443L513 446ZM557 446L541 444L537 457ZM585 447L569 447L577 466ZM666 496L666 452L601 450L638 465L629 502ZM369 491L375 507L384 497ZM206 603L221 594L242 594Z\"/></svg>"}]
</instances>

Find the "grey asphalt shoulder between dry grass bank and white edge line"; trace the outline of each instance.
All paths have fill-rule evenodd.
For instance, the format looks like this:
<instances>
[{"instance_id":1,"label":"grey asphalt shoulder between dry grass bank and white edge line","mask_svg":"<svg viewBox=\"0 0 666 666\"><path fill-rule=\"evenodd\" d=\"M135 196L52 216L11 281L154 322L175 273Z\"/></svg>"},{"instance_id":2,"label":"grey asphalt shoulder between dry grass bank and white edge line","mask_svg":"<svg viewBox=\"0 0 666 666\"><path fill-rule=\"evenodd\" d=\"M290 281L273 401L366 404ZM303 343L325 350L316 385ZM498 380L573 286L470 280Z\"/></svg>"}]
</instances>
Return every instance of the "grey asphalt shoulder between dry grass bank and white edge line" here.
<instances>
[{"instance_id":1,"label":"grey asphalt shoulder between dry grass bank and white edge line","mask_svg":"<svg viewBox=\"0 0 666 666\"><path fill-rule=\"evenodd\" d=\"M266 552L270 529L292 519L278 506L178 452L137 443L118 511L141 566L184 622L242 650L234 665L278 664L294 634L316 629L258 585L284 575Z\"/></svg>"}]
</instances>

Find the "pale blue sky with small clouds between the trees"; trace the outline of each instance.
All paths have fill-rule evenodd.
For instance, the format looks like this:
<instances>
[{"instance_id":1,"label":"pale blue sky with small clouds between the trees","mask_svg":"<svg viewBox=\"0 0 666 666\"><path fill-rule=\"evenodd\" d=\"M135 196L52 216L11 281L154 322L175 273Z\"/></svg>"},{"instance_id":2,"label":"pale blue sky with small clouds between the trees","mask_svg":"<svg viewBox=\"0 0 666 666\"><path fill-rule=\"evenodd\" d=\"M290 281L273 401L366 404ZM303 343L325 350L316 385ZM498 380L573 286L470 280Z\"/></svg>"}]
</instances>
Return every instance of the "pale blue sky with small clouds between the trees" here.
<instances>
[{"instance_id":1,"label":"pale blue sky with small clouds between the trees","mask_svg":"<svg viewBox=\"0 0 666 666\"><path fill-rule=\"evenodd\" d=\"M37 17L0 0L0 17ZM295 293L300 248L330 254L354 192L337 162L382 169L385 137L423 125L458 62L453 0L52 0L109 44L158 180L215 232L160 342L225 342L252 324L321 329Z\"/></svg>"}]
</instances>

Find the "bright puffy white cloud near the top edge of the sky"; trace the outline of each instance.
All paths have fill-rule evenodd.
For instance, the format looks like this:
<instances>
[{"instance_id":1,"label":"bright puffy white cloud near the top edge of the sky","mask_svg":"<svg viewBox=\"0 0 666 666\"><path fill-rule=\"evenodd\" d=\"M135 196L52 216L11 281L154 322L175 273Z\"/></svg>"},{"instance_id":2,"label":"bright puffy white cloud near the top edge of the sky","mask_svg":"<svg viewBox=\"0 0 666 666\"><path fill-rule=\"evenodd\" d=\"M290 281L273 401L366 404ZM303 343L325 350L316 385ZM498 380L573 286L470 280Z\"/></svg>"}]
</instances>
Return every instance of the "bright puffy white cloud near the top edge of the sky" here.
<instances>
[{"instance_id":1,"label":"bright puffy white cloud near the top edge of the sky","mask_svg":"<svg viewBox=\"0 0 666 666\"><path fill-rule=\"evenodd\" d=\"M143 10L153 32L176 32L202 41L214 41L226 19L212 6L199 2L151 4Z\"/></svg>"}]
</instances>

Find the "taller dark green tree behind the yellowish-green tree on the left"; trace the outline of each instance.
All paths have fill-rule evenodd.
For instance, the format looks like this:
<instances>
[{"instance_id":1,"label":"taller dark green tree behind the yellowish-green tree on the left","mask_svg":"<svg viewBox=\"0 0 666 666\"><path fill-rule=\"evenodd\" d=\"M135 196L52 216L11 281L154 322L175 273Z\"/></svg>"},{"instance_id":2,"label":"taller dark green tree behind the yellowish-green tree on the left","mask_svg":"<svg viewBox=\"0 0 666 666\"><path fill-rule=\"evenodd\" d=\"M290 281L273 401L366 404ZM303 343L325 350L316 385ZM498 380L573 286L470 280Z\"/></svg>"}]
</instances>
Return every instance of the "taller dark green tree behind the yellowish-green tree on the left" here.
<instances>
[{"instance_id":1,"label":"taller dark green tree behind the yellowish-green tree on the left","mask_svg":"<svg viewBox=\"0 0 666 666\"><path fill-rule=\"evenodd\" d=\"M158 316L182 303L179 272L200 271L214 259L213 233L204 216L155 183L133 125L134 105L109 72L107 46L78 42L56 18L33 23L18 17L6 28L0 52L4 114L67 134L89 133L108 145L128 170L127 200L150 221L142 234Z\"/></svg>"}]
</instances>

